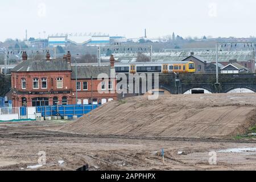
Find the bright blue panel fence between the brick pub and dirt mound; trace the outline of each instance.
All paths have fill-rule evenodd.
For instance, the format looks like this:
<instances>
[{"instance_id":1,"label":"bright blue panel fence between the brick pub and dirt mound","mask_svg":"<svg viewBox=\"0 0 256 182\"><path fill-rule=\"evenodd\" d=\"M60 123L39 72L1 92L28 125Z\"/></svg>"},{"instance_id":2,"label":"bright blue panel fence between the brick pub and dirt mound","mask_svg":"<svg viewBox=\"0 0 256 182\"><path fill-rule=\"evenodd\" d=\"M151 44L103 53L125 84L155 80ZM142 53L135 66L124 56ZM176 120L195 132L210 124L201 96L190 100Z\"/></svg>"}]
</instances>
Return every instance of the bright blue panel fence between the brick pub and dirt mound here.
<instances>
[{"instance_id":1,"label":"bright blue panel fence between the brick pub and dirt mound","mask_svg":"<svg viewBox=\"0 0 256 182\"><path fill-rule=\"evenodd\" d=\"M73 115L81 117L84 114L90 113L93 109L96 109L100 105L58 105L58 106L38 106L36 107L36 113L41 113L42 117L64 116L73 118ZM24 113L24 111L22 112Z\"/></svg>"}]
</instances>

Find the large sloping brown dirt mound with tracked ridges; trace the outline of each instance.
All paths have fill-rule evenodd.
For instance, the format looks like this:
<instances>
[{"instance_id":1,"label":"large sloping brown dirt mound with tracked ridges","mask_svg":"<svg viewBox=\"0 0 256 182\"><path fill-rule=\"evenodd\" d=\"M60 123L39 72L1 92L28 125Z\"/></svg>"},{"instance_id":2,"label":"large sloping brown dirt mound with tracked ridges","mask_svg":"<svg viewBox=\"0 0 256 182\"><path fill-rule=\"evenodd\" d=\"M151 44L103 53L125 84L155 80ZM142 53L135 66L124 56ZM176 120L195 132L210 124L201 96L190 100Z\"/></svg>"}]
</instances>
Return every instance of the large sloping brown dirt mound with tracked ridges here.
<instances>
[{"instance_id":1,"label":"large sloping brown dirt mound with tracked ridges","mask_svg":"<svg viewBox=\"0 0 256 182\"><path fill-rule=\"evenodd\" d=\"M61 132L132 137L221 137L256 122L256 94L146 96L109 102Z\"/></svg>"}]
</instances>

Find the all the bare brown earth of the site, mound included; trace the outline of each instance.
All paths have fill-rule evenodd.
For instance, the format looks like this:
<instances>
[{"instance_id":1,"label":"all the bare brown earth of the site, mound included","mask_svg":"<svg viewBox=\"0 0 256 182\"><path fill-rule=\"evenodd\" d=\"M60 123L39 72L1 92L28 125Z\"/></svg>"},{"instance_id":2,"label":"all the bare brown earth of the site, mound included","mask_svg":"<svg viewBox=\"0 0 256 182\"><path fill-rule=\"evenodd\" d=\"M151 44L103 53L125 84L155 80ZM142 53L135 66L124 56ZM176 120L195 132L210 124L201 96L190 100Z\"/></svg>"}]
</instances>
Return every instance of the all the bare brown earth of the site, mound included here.
<instances>
[{"instance_id":1,"label":"all the bare brown earth of the site, mound included","mask_svg":"<svg viewBox=\"0 0 256 182\"><path fill-rule=\"evenodd\" d=\"M255 124L255 93L127 98L77 121L0 123L0 170L255 170Z\"/></svg>"}]
</instances>

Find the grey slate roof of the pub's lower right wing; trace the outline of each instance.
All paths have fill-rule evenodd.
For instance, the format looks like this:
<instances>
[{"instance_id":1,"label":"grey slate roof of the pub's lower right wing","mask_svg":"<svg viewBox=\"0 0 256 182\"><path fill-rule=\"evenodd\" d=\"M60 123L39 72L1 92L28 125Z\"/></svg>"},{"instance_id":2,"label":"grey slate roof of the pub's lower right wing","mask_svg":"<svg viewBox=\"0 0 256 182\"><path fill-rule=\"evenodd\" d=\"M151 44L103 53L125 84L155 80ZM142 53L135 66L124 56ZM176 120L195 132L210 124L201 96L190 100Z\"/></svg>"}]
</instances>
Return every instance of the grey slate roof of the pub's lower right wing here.
<instances>
[{"instance_id":1,"label":"grey slate roof of the pub's lower right wing","mask_svg":"<svg viewBox=\"0 0 256 182\"><path fill-rule=\"evenodd\" d=\"M76 67L72 66L72 74L71 78L76 79ZM110 77L110 66L101 66L101 67L94 67L94 66L78 66L77 67L77 79L90 79L92 76L93 78L97 78L100 73L106 73Z\"/></svg>"}]
</instances>

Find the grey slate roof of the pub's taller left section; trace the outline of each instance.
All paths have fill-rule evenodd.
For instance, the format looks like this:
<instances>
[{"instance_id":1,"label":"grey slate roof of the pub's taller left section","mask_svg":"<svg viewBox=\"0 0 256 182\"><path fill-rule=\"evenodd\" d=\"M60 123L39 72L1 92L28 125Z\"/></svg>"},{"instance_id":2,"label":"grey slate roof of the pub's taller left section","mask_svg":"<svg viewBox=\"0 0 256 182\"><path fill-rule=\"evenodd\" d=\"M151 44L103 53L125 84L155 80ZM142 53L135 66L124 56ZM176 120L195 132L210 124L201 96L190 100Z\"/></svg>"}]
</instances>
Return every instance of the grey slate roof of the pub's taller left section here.
<instances>
[{"instance_id":1,"label":"grey slate roof of the pub's taller left section","mask_svg":"<svg viewBox=\"0 0 256 182\"><path fill-rule=\"evenodd\" d=\"M12 69L12 72L71 71L67 60L26 60Z\"/></svg>"}]
</instances>

